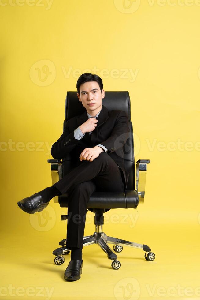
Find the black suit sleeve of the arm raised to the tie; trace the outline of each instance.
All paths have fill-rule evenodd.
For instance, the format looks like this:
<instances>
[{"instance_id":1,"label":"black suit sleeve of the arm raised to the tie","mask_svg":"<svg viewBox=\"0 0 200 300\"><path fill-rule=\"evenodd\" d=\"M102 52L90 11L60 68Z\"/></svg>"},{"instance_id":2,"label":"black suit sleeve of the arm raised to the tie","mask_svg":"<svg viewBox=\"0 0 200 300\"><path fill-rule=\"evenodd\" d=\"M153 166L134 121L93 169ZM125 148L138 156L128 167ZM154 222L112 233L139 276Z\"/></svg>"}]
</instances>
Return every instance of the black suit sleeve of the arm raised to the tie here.
<instances>
[{"instance_id":1,"label":"black suit sleeve of the arm raised to the tie","mask_svg":"<svg viewBox=\"0 0 200 300\"><path fill-rule=\"evenodd\" d=\"M65 130L51 147L51 155L56 159L63 159L70 153L79 140L74 137L74 131L69 132L69 120L65 123Z\"/></svg>"}]
</instances>

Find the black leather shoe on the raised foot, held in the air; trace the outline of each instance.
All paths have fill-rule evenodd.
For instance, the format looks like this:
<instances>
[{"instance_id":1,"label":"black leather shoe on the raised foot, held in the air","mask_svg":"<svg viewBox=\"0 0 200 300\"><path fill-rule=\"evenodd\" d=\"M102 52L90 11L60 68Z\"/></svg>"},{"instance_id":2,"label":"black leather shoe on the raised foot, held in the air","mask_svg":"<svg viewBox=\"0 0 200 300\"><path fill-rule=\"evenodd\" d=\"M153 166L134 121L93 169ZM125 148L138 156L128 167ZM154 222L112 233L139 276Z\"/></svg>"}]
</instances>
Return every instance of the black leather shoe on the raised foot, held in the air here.
<instances>
[{"instance_id":1,"label":"black leather shoe on the raised foot, held in the air","mask_svg":"<svg viewBox=\"0 0 200 300\"><path fill-rule=\"evenodd\" d=\"M24 198L17 202L17 205L24 211L29 214L34 214L35 212L41 212L49 202L44 203L43 198L39 193Z\"/></svg>"}]
</instances>

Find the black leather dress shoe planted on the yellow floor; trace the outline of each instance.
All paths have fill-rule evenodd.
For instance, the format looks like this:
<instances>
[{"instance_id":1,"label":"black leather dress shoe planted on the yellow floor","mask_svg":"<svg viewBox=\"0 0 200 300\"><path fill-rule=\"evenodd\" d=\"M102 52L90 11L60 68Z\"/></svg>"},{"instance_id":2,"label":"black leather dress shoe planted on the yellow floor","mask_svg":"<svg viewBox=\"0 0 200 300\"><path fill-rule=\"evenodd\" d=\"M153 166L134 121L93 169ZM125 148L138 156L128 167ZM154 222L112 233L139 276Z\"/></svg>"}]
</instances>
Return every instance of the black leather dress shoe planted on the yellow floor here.
<instances>
[{"instance_id":1,"label":"black leather dress shoe planted on the yellow floor","mask_svg":"<svg viewBox=\"0 0 200 300\"><path fill-rule=\"evenodd\" d=\"M80 279L82 274L83 262L79 259L72 259L65 270L65 280L74 281Z\"/></svg>"}]
</instances>

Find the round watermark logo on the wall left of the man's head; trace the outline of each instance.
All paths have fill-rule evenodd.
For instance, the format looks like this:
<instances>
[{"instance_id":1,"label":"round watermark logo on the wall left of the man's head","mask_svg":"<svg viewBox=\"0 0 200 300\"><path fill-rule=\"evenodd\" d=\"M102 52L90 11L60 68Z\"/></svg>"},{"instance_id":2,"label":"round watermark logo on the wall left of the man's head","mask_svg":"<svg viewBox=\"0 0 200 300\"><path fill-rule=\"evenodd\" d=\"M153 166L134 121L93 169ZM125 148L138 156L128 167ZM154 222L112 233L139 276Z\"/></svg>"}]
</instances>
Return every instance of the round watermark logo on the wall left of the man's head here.
<instances>
[{"instance_id":1,"label":"round watermark logo on the wall left of the man's head","mask_svg":"<svg viewBox=\"0 0 200 300\"><path fill-rule=\"evenodd\" d=\"M54 82L56 68L52 61L42 59L31 66L29 74L33 83L39 86L47 86Z\"/></svg>"}]
</instances>

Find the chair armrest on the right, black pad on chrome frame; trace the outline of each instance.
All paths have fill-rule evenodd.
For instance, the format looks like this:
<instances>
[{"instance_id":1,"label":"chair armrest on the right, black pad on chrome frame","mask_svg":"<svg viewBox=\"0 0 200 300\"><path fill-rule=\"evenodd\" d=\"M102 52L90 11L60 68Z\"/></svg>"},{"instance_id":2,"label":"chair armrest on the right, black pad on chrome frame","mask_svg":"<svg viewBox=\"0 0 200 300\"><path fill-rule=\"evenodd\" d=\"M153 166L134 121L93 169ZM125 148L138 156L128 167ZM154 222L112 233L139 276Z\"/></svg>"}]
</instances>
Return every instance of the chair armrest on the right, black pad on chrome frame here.
<instances>
[{"instance_id":1,"label":"chair armrest on the right, black pad on chrome frame","mask_svg":"<svg viewBox=\"0 0 200 300\"><path fill-rule=\"evenodd\" d=\"M146 165L150 162L150 159L139 159L136 162L136 191L138 192L139 203L144 203Z\"/></svg>"}]
</instances>

